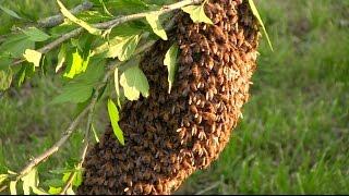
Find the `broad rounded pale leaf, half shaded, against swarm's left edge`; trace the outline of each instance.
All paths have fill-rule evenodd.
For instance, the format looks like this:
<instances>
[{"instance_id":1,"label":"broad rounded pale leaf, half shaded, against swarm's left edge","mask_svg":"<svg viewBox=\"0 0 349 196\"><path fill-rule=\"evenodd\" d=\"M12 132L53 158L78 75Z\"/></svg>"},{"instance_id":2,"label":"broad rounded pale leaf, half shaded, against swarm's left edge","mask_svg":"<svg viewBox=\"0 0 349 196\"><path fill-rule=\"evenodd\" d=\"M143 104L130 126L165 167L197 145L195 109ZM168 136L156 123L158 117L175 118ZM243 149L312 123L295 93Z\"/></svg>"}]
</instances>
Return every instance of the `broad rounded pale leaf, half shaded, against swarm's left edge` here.
<instances>
[{"instance_id":1,"label":"broad rounded pale leaf, half shaded, against swarm's left edge","mask_svg":"<svg viewBox=\"0 0 349 196\"><path fill-rule=\"evenodd\" d=\"M149 96L148 81L139 66L131 66L124 71L120 76L120 85L129 100L137 100L140 94L144 97Z\"/></svg>"}]
</instances>

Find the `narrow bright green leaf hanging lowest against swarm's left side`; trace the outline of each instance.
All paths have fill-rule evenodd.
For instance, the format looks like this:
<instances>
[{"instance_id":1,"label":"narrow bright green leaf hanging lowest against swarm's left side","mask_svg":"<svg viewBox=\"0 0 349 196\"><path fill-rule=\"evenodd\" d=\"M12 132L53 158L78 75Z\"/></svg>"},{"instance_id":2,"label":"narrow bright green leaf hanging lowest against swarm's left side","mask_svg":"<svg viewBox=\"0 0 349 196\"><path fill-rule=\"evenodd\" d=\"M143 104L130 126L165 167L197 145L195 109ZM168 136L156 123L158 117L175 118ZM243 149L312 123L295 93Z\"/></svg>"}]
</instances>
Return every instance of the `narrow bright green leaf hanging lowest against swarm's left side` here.
<instances>
[{"instance_id":1,"label":"narrow bright green leaf hanging lowest against swarm's left side","mask_svg":"<svg viewBox=\"0 0 349 196\"><path fill-rule=\"evenodd\" d=\"M116 106L116 103L113 103L113 101L111 99L108 99L108 113L109 113L109 118L110 118L110 122L111 122L111 126L113 130L113 133L116 134L118 140L120 142L120 144L122 146L124 146L124 138L123 138L123 133L118 124L119 122L119 111L118 108Z\"/></svg>"}]
</instances>

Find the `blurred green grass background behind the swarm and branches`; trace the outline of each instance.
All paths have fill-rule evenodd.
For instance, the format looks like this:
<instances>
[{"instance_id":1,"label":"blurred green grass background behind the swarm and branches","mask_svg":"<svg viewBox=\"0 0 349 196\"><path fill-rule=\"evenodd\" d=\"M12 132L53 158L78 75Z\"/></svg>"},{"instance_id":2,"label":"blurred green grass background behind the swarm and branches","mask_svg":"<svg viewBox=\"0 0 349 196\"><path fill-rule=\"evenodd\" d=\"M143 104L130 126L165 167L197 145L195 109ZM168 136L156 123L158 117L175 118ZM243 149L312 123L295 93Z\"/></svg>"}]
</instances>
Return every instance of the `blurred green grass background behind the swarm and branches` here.
<instances>
[{"instance_id":1,"label":"blurred green grass background behind the swarm and branches","mask_svg":"<svg viewBox=\"0 0 349 196\"><path fill-rule=\"evenodd\" d=\"M53 0L2 2L33 21L57 12ZM219 159L192 175L177 194L348 194L349 1L256 4L275 52L263 39L243 120ZM0 16L3 35L13 20L2 12ZM67 127L74 108L47 105L58 95L57 81L35 76L0 98L0 172L21 169ZM98 119L101 133L105 111ZM74 134L39 170L77 158L81 139L80 132Z\"/></svg>"}]
</instances>

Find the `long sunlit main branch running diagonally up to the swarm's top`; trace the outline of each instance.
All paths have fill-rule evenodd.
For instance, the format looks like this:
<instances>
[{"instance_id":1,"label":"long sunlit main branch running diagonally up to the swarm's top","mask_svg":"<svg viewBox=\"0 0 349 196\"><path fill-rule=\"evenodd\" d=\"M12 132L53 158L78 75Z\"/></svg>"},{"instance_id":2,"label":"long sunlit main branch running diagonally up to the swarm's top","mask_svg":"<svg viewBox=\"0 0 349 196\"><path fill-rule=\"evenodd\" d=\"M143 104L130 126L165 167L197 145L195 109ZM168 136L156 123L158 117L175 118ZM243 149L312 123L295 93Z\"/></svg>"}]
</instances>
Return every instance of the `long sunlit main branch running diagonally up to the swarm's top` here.
<instances>
[{"instance_id":1,"label":"long sunlit main branch running diagonally up to the swarm's top","mask_svg":"<svg viewBox=\"0 0 349 196\"><path fill-rule=\"evenodd\" d=\"M178 10L181 9L183 7L190 5L190 4L196 4L202 2L202 0L183 0L173 4L169 4L169 5L164 5L159 11L151 11L151 12L144 12L144 13L137 13L137 14L131 14L131 15L124 15L124 16L119 16L115 20L108 21L108 22L104 22L104 23L97 23L94 24L93 26L99 29L107 29L110 27L115 27L118 26L122 23L125 22L130 22L130 21L134 21L134 20L139 20L142 17L145 17L147 14L165 14L165 13L169 13L173 10ZM60 38L56 39L55 41L46 45L45 47L38 49L37 51L45 54L49 51L51 51L52 49L57 48L58 46L60 46L62 42L79 36L81 33L84 32L84 28L79 27L68 34L62 35ZM17 65L21 64L22 62L24 62L24 59L20 59L16 60L12 63L12 65Z\"/></svg>"}]
</instances>

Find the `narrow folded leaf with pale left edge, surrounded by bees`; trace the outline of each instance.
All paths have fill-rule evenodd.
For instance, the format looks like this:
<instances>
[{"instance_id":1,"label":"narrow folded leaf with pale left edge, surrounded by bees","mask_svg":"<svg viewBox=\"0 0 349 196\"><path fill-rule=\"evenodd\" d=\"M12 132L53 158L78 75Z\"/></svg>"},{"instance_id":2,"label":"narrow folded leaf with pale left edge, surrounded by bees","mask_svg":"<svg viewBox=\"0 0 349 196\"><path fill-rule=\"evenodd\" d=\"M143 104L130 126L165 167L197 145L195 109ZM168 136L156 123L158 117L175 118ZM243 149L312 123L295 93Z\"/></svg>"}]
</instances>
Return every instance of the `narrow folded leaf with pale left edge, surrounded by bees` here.
<instances>
[{"instance_id":1,"label":"narrow folded leaf with pale left edge, surrounded by bees","mask_svg":"<svg viewBox=\"0 0 349 196\"><path fill-rule=\"evenodd\" d=\"M164 65L167 66L168 71L168 83L169 88L168 93L171 93L171 88L174 82L174 76L177 72L177 54L178 54L178 46L173 44L170 49L166 52L165 59L164 59Z\"/></svg>"}]
</instances>

